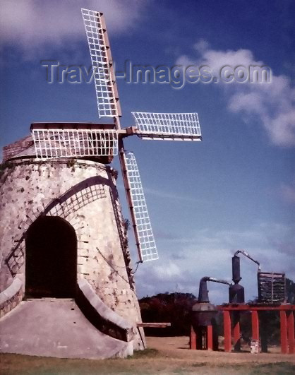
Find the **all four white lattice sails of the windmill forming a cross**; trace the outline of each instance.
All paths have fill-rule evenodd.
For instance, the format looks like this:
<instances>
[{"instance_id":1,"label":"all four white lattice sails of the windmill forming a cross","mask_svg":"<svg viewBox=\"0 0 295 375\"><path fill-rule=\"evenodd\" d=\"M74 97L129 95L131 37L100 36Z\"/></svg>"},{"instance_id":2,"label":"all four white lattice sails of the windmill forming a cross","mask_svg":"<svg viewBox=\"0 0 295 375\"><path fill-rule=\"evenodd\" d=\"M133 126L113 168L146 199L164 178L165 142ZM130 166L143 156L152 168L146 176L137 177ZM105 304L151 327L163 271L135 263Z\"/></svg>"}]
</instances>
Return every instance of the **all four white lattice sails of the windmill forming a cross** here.
<instances>
[{"instance_id":1,"label":"all four white lattice sails of the windmill forming a cross","mask_svg":"<svg viewBox=\"0 0 295 375\"><path fill-rule=\"evenodd\" d=\"M142 140L201 141L197 113L132 112L135 125L121 128L121 107L113 69L107 28L102 13L81 9L95 78L98 117L112 124L32 124L37 158L114 157L119 155L121 172L133 225L139 262L158 259L150 217L136 157L124 148L124 138Z\"/></svg>"}]
</instances>

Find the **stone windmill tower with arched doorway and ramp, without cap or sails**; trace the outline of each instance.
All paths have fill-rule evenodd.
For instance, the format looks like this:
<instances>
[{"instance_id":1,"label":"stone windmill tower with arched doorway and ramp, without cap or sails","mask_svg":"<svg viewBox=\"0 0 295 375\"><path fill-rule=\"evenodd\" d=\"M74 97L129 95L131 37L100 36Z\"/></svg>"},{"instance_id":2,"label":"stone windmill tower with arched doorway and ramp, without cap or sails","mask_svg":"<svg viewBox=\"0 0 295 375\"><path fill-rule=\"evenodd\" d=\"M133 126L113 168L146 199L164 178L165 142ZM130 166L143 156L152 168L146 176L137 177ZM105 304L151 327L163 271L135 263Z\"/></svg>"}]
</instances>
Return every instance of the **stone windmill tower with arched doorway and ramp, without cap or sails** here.
<instances>
[{"instance_id":1,"label":"stone windmill tower with arched doorway and ramp, without cap or sails","mask_svg":"<svg viewBox=\"0 0 295 375\"><path fill-rule=\"evenodd\" d=\"M142 350L116 171L90 160L9 160L2 165L0 199L1 352L104 358ZM92 319L95 311L88 315L87 302L80 304L77 285L83 280L101 320ZM41 299L54 309L47 311ZM74 310L62 299L75 300ZM112 311L104 314L107 309ZM78 330L74 313L81 316ZM120 319L131 325L130 335L124 326L121 335ZM89 350L79 352L79 345Z\"/></svg>"}]
</instances>

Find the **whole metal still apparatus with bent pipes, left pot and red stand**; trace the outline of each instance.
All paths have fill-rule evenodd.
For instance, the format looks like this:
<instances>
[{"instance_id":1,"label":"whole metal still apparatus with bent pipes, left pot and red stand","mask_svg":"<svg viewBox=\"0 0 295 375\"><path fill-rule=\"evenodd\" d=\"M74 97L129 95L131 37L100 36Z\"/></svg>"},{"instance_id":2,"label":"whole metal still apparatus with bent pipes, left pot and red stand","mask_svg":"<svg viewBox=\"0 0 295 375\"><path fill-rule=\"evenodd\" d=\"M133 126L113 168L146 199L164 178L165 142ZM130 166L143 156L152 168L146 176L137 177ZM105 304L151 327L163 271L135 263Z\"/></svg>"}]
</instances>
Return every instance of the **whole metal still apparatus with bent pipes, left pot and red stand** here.
<instances>
[{"instance_id":1,"label":"whole metal still apparatus with bent pipes, left pot and red stand","mask_svg":"<svg viewBox=\"0 0 295 375\"><path fill-rule=\"evenodd\" d=\"M258 265L258 300L245 304L244 288L241 280L240 258L243 254ZM217 311L224 316L224 350L231 351L231 335L234 339L234 350L241 350L240 314L251 312L252 340L251 352L267 352L267 320L265 311L277 311L281 324L282 353L294 353L294 309L295 306L286 302L286 281L284 273L262 272L260 263L246 251L238 250L231 258L231 284L224 280L205 277L200 280L198 302L193 305L191 314L191 349L217 350L218 338L216 329ZM210 304L207 281L222 282L229 285L229 303L222 306ZM253 350L252 350L253 349Z\"/></svg>"}]
</instances>

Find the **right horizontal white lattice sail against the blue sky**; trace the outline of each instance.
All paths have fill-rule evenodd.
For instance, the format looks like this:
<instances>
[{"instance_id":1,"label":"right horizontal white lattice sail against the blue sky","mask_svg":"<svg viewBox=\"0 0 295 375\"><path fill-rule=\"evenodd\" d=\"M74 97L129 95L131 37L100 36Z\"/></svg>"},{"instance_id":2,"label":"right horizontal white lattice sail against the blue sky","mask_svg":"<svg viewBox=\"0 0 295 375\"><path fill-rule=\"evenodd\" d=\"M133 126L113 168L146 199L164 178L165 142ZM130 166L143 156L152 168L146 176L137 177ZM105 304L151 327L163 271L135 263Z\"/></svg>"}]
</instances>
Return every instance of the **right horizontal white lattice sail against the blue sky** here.
<instances>
[{"instance_id":1,"label":"right horizontal white lattice sail against the blue sky","mask_svg":"<svg viewBox=\"0 0 295 375\"><path fill-rule=\"evenodd\" d=\"M143 139L168 141L201 141L197 113L132 112Z\"/></svg>"}]
</instances>

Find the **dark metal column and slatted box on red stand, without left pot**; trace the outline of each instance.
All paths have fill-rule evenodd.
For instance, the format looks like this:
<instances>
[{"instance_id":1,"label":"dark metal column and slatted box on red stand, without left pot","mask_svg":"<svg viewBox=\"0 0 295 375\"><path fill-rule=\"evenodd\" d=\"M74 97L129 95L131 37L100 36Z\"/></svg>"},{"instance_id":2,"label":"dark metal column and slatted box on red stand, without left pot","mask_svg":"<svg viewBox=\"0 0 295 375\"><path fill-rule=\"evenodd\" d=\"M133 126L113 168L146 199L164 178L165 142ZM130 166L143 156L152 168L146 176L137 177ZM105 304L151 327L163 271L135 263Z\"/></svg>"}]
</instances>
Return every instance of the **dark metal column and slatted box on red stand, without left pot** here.
<instances>
[{"instance_id":1,"label":"dark metal column and slatted box on red stand, without left pot","mask_svg":"<svg viewBox=\"0 0 295 375\"><path fill-rule=\"evenodd\" d=\"M243 254L258 265L258 300L245 304L244 289L239 285L240 258ZM278 311L281 324L282 353L294 353L294 305L286 302L286 280L284 273L262 272L260 263L246 251L238 250L232 257L232 280L229 287L229 304L217 306L224 314L224 350L231 351L231 333L234 336L234 350L241 350L240 314L251 312L252 340L251 350L267 352L267 317L265 311ZM253 346L253 347L252 347Z\"/></svg>"}]
</instances>

